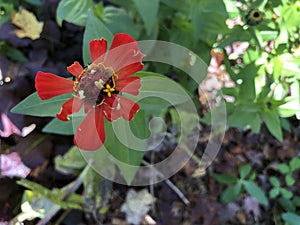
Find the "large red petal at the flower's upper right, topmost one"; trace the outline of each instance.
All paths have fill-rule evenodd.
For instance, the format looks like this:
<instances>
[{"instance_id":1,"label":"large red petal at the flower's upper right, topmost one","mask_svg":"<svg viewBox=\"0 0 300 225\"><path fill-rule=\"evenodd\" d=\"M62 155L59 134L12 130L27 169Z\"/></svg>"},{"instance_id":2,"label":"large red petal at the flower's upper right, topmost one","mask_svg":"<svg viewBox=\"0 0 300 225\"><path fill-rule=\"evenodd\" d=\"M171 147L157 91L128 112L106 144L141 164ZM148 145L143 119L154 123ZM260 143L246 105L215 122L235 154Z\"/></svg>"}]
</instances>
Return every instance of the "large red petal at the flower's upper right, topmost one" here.
<instances>
[{"instance_id":1,"label":"large red petal at the flower's upper right, topmost one","mask_svg":"<svg viewBox=\"0 0 300 225\"><path fill-rule=\"evenodd\" d=\"M142 62L144 55L140 52L137 42L128 34L116 34L105 58L105 65L114 71Z\"/></svg>"}]
</instances>

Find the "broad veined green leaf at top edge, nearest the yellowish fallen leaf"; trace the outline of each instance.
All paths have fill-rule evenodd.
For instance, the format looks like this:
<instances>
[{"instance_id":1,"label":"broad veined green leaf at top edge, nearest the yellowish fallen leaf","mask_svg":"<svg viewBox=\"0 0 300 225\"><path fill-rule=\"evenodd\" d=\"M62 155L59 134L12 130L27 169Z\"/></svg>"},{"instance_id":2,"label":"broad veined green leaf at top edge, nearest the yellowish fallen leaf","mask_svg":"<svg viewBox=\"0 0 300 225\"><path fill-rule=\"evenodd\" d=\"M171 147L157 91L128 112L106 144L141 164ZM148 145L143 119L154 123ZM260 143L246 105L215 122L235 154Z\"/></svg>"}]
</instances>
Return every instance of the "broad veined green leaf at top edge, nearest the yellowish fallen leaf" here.
<instances>
[{"instance_id":1,"label":"broad veined green leaf at top edge, nearest the yellowish fallen leaf","mask_svg":"<svg viewBox=\"0 0 300 225\"><path fill-rule=\"evenodd\" d=\"M56 11L56 21L59 26L63 20L84 26L88 9L92 6L92 0L61 0Z\"/></svg>"}]
</instances>

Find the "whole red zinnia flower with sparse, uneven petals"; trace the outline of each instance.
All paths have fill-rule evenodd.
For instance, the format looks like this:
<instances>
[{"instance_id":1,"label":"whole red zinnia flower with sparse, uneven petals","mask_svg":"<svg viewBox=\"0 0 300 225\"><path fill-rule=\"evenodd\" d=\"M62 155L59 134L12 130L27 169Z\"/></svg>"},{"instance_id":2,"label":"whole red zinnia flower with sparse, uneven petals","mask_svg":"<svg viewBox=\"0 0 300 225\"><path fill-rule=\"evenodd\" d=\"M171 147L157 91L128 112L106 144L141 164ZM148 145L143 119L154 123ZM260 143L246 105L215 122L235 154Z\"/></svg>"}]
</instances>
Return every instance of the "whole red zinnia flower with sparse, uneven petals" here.
<instances>
[{"instance_id":1,"label":"whole red zinnia flower with sparse, uneven petals","mask_svg":"<svg viewBox=\"0 0 300 225\"><path fill-rule=\"evenodd\" d=\"M38 72L35 87L42 100L73 92L56 117L68 121L68 115L82 106L86 117L78 126L74 143L83 150L96 150L105 140L104 117L131 120L139 105L121 95L137 95L140 78L131 74L142 70L143 54L137 42L127 34L116 34L109 51L105 39L90 42L92 63L83 68L77 61L68 67L75 81L51 73Z\"/></svg>"}]
</instances>

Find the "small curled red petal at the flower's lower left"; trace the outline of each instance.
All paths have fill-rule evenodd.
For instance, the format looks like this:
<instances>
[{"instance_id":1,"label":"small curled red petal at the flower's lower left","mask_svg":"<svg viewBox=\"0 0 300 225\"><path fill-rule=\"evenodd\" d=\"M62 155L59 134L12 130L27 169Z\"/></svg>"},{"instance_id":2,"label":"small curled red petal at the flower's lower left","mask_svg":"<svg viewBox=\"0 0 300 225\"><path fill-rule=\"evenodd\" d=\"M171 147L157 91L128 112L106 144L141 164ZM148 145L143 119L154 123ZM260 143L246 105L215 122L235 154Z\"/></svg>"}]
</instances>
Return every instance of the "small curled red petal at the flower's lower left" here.
<instances>
[{"instance_id":1,"label":"small curled red petal at the flower's lower left","mask_svg":"<svg viewBox=\"0 0 300 225\"><path fill-rule=\"evenodd\" d=\"M62 106L56 117L62 121L68 121L68 115L78 112L83 105L83 101L77 97L70 98Z\"/></svg>"}]
</instances>

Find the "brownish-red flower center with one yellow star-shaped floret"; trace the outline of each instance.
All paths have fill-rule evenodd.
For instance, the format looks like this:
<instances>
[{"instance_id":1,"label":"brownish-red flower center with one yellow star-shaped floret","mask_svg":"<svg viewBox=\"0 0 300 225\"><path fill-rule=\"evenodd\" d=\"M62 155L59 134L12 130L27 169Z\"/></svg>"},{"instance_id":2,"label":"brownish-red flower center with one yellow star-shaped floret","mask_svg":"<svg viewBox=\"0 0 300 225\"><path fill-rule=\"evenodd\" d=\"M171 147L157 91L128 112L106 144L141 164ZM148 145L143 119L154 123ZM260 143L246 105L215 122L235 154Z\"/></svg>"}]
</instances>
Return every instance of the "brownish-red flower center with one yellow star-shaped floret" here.
<instances>
[{"instance_id":1,"label":"brownish-red flower center with one yellow star-shaped floret","mask_svg":"<svg viewBox=\"0 0 300 225\"><path fill-rule=\"evenodd\" d=\"M74 83L76 96L86 103L101 105L105 97L117 93L115 89L115 74L112 68L102 63L89 65Z\"/></svg>"}]
</instances>

